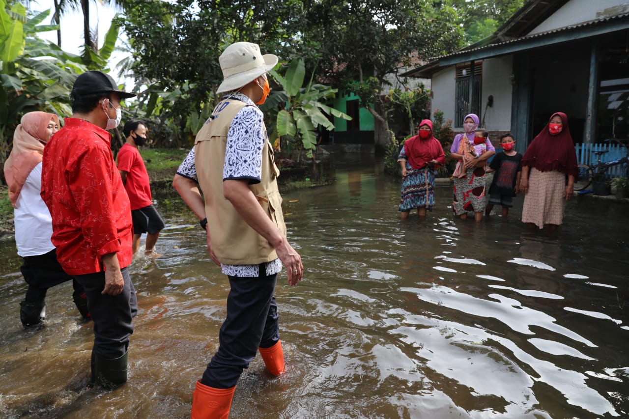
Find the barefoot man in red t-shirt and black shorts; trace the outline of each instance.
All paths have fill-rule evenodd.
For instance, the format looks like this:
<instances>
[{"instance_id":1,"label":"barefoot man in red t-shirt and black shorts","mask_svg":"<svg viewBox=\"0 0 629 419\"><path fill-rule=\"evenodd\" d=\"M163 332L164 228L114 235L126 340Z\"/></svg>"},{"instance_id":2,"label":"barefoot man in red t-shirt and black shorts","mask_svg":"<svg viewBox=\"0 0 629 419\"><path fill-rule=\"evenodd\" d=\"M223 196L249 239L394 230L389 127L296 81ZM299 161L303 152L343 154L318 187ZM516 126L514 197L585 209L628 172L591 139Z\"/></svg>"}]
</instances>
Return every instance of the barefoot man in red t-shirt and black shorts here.
<instances>
[{"instance_id":1,"label":"barefoot man in red t-shirt and black shorts","mask_svg":"<svg viewBox=\"0 0 629 419\"><path fill-rule=\"evenodd\" d=\"M140 121L130 121L123 128L126 143L118 152L118 171L126 193L131 202L131 218L133 219L133 254L140 247L142 233L147 233L147 245L144 254L160 257L153 248L164 229L164 220L153 206L151 186L148 180L147 167L144 165L138 146L147 142L147 127Z\"/></svg>"}]
</instances>

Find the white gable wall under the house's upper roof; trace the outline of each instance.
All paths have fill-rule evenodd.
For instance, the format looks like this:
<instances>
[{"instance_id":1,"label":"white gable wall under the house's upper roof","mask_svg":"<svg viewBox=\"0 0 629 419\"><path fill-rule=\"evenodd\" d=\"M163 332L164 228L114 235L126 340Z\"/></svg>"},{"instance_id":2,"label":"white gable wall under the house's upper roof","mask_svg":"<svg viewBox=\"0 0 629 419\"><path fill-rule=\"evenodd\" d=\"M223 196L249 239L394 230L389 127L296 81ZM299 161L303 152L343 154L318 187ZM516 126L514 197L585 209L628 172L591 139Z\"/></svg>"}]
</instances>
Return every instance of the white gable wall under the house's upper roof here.
<instances>
[{"instance_id":1,"label":"white gable wall under the house's upper roof","mask_svg":"<svg viewBox=\"0 0 629 419\"><path fill-rule=\"evenodd\" d=\"M608 18L629 11L628 0L571 0L553 13L528 35L564 28L599 18Z\"/></svg>"}]
</instances>

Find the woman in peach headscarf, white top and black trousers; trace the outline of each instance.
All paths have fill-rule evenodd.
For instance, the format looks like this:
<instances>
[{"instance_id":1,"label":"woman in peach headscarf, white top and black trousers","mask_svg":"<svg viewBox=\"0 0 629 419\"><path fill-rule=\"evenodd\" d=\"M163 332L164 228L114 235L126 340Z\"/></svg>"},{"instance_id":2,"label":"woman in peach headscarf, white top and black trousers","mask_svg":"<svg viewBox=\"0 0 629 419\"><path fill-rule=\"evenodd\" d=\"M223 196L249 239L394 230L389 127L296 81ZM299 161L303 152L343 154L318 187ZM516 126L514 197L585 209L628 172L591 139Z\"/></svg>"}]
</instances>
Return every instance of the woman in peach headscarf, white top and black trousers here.
<instances>
[{"instance_id":1,"label":"woman in peach headscarf, white top and black trousers","mask_svg":"<svg viewBox=\"0 0 629 419\"><path fill-rule=\"evenodd\" d=\"M19 318L27 330L42 327L48 288L72 279L57 262L50 242L52 218L40 196L43 148L58 129L59 118L53 113L30 112L22 116L13 134L13 149L4 162L4 177L14 208L15 243L18 255L24 259L20 270L28 284L25 299L19 303ZM83 288L74 279L72 285L74 303L85 319L89 313Z\"/></svg>"}]
</instances>

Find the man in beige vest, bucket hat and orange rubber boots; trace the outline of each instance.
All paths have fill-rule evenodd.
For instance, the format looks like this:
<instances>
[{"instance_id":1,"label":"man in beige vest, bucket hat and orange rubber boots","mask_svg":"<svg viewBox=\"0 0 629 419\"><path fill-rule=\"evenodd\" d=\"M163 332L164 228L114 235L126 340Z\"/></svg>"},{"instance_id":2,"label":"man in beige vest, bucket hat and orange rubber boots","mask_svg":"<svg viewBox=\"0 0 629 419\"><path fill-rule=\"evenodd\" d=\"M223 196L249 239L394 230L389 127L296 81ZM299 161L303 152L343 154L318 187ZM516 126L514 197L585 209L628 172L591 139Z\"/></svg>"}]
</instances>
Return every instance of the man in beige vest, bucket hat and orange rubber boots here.
<instances>
[{"instance_id":1,"label":"man in beige vest, bucket hat and orange rubber boots","mask_svg":"<svg viewBox=\"0 0 629 419\"><path fill-rule=\"evenodd\" d=\"M238 377L260 352L269 372L284 372L279 340L277 274L301 281L301 257L286 239L279 170L262 111L266 73L277 57L237 42L219 59L226 92L195 140L194 166L204 195L208 250L230 281L220 346L192 393L192 418L227 418Z\"/></svg>"}]
</instances>

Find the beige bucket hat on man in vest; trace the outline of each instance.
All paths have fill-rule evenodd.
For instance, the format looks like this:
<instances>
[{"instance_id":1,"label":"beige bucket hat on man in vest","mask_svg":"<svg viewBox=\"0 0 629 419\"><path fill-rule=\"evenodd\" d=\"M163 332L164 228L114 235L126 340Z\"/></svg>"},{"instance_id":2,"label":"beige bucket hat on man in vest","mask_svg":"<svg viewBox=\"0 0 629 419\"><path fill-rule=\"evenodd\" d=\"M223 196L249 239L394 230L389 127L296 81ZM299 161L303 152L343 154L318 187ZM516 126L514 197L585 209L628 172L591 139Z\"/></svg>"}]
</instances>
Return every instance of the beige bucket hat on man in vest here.
<instances>
[{"instance_id":1,"label":"beige bucket hat on man in vest","mask_svg":"<svg viewBox=\"0 0 629 419\"><path fill-rule=\"evenodd\" d=\"M223 82L217 93L240 89L248 82L269 72L277 64L277 55L260 53L256 43L235 42L218 58L223 70Z\"/></svg>"}]
</instances>

